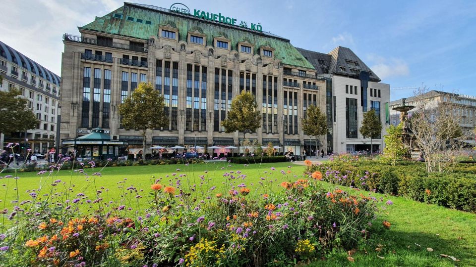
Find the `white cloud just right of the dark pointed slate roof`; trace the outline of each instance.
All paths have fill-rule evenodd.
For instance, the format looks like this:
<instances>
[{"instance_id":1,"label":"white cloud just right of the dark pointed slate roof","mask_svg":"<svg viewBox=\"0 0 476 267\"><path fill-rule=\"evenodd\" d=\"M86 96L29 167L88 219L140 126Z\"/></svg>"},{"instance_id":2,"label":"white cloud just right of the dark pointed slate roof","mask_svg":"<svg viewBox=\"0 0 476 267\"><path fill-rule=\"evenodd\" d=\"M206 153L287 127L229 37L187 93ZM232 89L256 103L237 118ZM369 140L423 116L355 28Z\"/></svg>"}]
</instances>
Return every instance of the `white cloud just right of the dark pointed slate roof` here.
<instances>
[{"instance_id":1,"label":"white cloud just right of the dark pointed slate roof","mask_svg":"<svg viewBox=\"0 0 476 267\"><path fill-rule=\"evenodd\" d=\"M370 69L382 80L410 74L408 64L403 59L394 57L386 59L375 54L370 54L367 58L370 62L373 62Z\"/></svg>"}]
</instances>

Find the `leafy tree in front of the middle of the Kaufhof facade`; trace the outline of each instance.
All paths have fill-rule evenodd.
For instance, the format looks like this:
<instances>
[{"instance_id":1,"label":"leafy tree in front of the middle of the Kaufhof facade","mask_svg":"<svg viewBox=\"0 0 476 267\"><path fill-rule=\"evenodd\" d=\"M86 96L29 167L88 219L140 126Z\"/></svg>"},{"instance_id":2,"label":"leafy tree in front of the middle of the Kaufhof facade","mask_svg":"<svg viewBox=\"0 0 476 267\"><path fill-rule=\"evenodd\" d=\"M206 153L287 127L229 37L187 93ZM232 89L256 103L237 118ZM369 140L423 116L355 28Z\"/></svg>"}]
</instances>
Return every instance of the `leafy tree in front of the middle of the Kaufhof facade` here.
<instances>
[{"instance_id":1,"label":"leafy tree in front of the middle of the Kaufhof facade","mask_svg":"<svg viewBox=\"0 0 476 267\"><path fill-rule=\"evenodd\" d=\"M222 121L222 125L225 127L225 133L238 131L239 134L239 132L243 132L243 140L246 130L254 131L260 127L261 111L259 111L256 99L251 92L242 90L232 100L231 109L228 112L227 118Z\"/></svg>"}]
</instances>

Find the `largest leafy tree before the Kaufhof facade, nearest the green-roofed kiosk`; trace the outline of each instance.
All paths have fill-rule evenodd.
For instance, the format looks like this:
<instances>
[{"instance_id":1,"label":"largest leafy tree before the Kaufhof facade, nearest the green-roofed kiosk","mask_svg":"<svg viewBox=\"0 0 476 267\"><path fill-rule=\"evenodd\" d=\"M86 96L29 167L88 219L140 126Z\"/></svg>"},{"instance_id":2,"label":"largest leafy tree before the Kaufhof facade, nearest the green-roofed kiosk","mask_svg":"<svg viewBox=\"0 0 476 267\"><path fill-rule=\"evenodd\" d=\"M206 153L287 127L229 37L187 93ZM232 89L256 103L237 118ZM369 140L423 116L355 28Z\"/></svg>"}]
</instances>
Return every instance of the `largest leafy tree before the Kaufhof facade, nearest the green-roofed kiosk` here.
<instances>
[{"instance_id":1,"label":"largest leafy tree before the Kaufhof facade, nearest the green-roofed kiosk","mask_svg":"<svg viewBox=\"0 0 476 267\"><path fill-rule=\"evenodd\" d=\"M144 158L147 130L169 125L169 116L164 112L164 97L150 83L140 83L137 89L124 99L124 103L119 104L119 115L126 130L140 131Z\"/></svg>"}]
</instances>

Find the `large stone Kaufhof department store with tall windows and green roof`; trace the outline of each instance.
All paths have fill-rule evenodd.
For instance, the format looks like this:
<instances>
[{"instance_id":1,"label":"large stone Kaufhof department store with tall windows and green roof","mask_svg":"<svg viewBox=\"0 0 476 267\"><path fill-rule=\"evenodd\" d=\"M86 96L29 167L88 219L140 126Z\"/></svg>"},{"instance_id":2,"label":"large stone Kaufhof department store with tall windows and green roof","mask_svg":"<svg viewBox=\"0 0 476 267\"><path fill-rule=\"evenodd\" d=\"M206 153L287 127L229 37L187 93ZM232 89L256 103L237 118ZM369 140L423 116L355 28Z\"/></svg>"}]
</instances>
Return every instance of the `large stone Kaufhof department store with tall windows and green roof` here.
<instances>
[{"instance_id":1,"label":"large stone Kaufhof department store with tall windows and green roof","mask_svg":"<svg viewBox=\"0 0 476 267\"><path fill-rule=\"evenodd\" d=\"M121 127L118 106L147 82L164 96L170 119L168 127L148 132L151 146L237 146L242 133L225 133L221 122L233 97L247 90L262 112L262 126L246 133L247 139L295 154L315 151L301 120L309 105L336 112L328 103L332 78L322 76L320 66L290 40L239 21L183 5L124 3L79 27L80 36L65 34L61 138L101 127L127 140L129 151L142 149L140 134ZM333 151L335 131L320 136L318 150Z\"/></svg>"}]
</instances>

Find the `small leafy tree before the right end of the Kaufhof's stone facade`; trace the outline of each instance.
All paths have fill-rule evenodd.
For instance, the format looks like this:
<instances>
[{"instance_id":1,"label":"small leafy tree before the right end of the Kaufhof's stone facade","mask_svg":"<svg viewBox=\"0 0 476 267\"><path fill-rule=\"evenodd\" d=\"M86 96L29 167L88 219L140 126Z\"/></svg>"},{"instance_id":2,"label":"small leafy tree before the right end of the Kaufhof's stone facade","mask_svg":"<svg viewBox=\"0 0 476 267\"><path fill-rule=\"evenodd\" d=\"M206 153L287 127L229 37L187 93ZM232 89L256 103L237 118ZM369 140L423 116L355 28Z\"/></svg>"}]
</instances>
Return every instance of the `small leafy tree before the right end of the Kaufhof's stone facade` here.
<instances>
[{"instance_id":1,"label":"small leafy tree before the right end of the Kaufhof's stone facade","mask_svg":"<svg viewBox=\"0 0 476 267\"><path fill-rule=\"evenodd\" d=\"M317 137L320 135L327 134L327 116L318 106L310 105L306 110L306 117L302 119L302 130L308 134L312 135L316 139L316 150L317 148Z\"/></svg>"}]
</instances>

